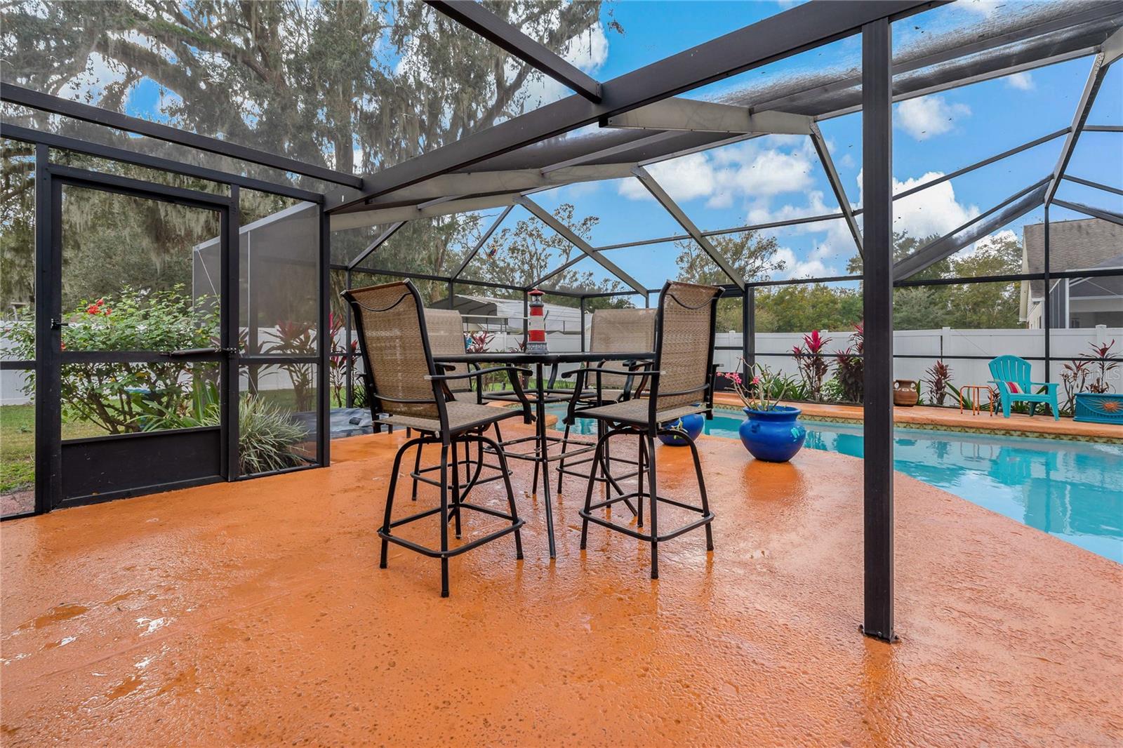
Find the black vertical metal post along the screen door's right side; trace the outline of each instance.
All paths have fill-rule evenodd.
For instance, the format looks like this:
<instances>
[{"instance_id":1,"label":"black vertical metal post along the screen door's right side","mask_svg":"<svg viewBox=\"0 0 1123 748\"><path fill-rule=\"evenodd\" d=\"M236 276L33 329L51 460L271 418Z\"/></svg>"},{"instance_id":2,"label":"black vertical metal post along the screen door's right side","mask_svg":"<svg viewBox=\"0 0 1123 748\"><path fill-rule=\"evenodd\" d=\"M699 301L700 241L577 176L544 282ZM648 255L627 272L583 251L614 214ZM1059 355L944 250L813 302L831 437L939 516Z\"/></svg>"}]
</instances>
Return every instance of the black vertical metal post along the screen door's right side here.
<instances>
[{"instance_id":1,"label":"black vertical metal post along the screen door's right side","mask_svg":"<svg viewBox=\"0 0 1123 748\"><path fill-rule=\"evenodd\" d=\"M240 195L241 193L238 185L231 184L230 206L222 215L223 226L221 256L223 258L223 265L222 277L219 279L219 286L221 289L219 292L219 307L221 309L220 318L222 320L222 329L219 331L219 338L221 339L222 347L226 349L226 356L222 358L221 365L222 396L220 408L222 410L222 427L226 434L226 444L223 445L223 463L226 466L227 481L237 478L240 473L238 455L238 407L240 399L239 383L241 378L241 371L238 366L238 354L240 353L238 350L238 341L241 337L239 335L239 323L241 320L241 298L239 293L239 289L241 288ZM248 252L246 254L246 262L249 263ZM247 282L246 291L248 293L248 298L253 299L254 290L252 283ZM250 308L247 310L247 322L249 325L249 329L255 330L255 326L257 325L256 310L254 309L253 302L248 301L248 299L247 304ZM247 336L247 340L256 340L256 335L250 332L250 335ZM250 348L248 353L255 353L254 348Z\"/></svg>"}]
</instances>

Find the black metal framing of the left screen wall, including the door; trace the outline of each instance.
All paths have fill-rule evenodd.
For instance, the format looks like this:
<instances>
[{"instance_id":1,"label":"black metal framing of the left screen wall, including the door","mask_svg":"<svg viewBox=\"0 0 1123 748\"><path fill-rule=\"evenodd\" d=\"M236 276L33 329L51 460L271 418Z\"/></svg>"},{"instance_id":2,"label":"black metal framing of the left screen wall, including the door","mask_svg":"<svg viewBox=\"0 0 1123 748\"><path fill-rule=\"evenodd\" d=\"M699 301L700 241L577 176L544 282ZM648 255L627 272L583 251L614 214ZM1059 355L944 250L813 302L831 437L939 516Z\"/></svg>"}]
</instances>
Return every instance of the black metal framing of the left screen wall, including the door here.
<instances>
[{"instance_id":1,"label":"black metal framing of the left screen wall, including the door","mask_svg":"<svg viewBox=\"0 0 1123 748\"><path fill-rule=\"evenodd\" d=\"M13 100L20 97L22 90L17 86L4 85L4 99ZM34 92L31 92L34 93ZM31 97L35 101L39 98ZM20 99L24 102L22 99ZM77 106L74 113L82 113L83 118L89 115L84 104ZM54 109L69 108L56 107ZM109 112L112 115L112 112ZM92 116L91 116L92 117ZM127 118L128 119L128 118ZM91 121L98 121L92 119ZM238 174L219 172L216 170L198 167L191 164L183 164L165 158L149 156L147 154L134 153L100 144L88 143L76 138L70 138L51 133L40 133L3 124L3 137L29 143L35 147L35 283L36 283L36 357L25 362L4 362L4 370L35 371L35 420L36 420L36 447L35 447L35 505L30 512L6 516L3 519L18 519L33 514L52 511L60 507L77 505L108 501L111 499L139 495L141 493L153 493L167 491L186 485L198 485L200 483L213 482L214 480L241 480L238 474L238 399L239 392L239 366L243 364L284 364L290 359L311 363L319 368L317 383L319 387L319 400L317 403L317 458L314 464L296 466L275 471L263 475L272 475L277 472L291 472L294 469L305 469L314 466L326 466L329 464L329 429L328 429L328 405L330 390L327 383L328 367L327 361L327 307L328 307L328 274L330 256L330 226L323 212L323 195L317 192L300 190L285 184L276 184L264 180L245 177ZM159 126L163 127L163 126ZM130 128L126 128L130 129ZM190 134L188 134L190 135ZM179 139L168 137L174 142ZM190 144L191 138L186 138ZM220 143L220 142L219 142ZM197 190L167 186L159 183L146 182L117 174L101 173L84 168L75 168L51 163L51 149L72 150L86 155L106 158L118 163L133 164L154 168L167 173L183 174L197 179L208 180L217 184L225 184L228 194L217 194L200 192ZM226 154L230 155L230 154ZM255 162L256 163L256 162ZM99 491L95 495L77 499L64 499L63 496L63 472L62 453L70 445L85 443L128 443L131 448L133 441L138 441L135 437L154 436L166 438L168 432L153 432L140 435L118 435L104 436L91 439L67 440L63 443L62 403L61 403L61 372L62 366L67 363L144 363L166 361L167 355L156 352L63 352L62 343L62 320L58 319L61 298L60 282L62 273L62 213L61 195L64 185L73 185L82 189L93 189L118 194L128 194L148 200L173 202L203 210L213 210L220 217L220 255L222 262L222 279L220 281L219 305L221 327L219 330L219 348L213 352L177 352L181 359L217 363L219 365L221 382L220 389L220 422L218 427L219 437L219 469L216 475L204 478L175 480L172 482L153 482L143 487L113 489ZM302 200L318 204L318 216L320 221L320 256L318 263L319 271L319 320L318 352L316 355L296 357L275 357L238 355L236 344L238 340L238 301L239 301L239 197L240 188L257 190L272 194L282 195L290 199ZM57 323L56 323L57 321ZM175 432L208 431L213 429L179 429ZM144 439L139 439L144 440ZM107 469L111 469L110 465ZM126 469L126 466L121 466ZM254 475L252 477L261 477Z\"/></svg>"}]
</instances>

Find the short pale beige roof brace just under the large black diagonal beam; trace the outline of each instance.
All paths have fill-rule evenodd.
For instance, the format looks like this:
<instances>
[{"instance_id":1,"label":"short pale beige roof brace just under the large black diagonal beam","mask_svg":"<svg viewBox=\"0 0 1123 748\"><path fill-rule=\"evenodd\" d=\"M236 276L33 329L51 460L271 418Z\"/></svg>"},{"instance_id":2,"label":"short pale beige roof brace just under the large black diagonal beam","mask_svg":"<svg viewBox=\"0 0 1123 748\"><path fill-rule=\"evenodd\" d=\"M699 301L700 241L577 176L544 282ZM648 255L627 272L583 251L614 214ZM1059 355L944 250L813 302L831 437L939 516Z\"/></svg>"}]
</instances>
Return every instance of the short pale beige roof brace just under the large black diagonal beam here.
<instances>
[{"instance_id":1,"label":"short pale beige roof brace just under the large black diagonal beam","mask_svg":"<svg viewBox=\"0 0 1123 748\"><path fill-rule=\"evenodd\" d=\"M601 126L690 133L811 135L813 121L806 115L789 115L784 111L754 113L749 107L676 97L605 117L601 120Z\"/></svg>"}]
</instances>

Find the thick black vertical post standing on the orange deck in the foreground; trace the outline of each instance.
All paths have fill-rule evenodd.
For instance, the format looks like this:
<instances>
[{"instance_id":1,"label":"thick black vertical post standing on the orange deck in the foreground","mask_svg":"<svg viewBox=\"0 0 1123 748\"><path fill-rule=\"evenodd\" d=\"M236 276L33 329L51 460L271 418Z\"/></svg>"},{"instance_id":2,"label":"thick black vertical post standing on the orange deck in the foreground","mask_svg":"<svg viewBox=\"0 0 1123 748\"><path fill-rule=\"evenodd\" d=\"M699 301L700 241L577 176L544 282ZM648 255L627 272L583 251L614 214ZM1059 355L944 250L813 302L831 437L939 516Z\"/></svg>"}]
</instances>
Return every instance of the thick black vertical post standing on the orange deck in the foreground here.
<instances>
[{"instance_id":1,"label":"thick black vertical post standing on the orange deck in the foreground","mask_svg":"<svg viewBox=\"0 0 1123 748\"><path fill-rule=\"evenodd\" d=\"M865 617L893 641L893 46L886 18L861 29Z\"/></svg>"}]
</instances>

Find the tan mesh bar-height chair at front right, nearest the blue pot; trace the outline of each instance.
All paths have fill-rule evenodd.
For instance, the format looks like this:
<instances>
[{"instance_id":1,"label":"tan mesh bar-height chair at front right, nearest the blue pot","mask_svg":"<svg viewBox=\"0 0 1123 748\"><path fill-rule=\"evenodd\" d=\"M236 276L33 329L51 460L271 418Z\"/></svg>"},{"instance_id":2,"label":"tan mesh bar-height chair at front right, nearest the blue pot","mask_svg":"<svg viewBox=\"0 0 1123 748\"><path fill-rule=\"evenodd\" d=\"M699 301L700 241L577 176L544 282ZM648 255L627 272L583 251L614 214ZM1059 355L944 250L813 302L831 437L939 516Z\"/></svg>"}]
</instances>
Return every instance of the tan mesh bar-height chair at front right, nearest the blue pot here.
<instances>
[{"instance_id":1,"label":"tan mesh bar-height chair at front right, nearest the blue pot","mask_svg":"<svg viewBox=\"0 0 1123 748\"><path fill-rule=\"evenodd\" d=\"M713 418L713 334L720 295L721 289L716 286L668 281L659 294L655 361L642 370L648 380L646 398L622 400L582 412L584 418L595 418L608 428L604 435L597 439L596 450L593 455L592 471L585 490L585 507L581 510L581 547L585 548L590 522L650 542L652 580L659 578L660 542L703 527L705 528L706 550L713 550L713 531L710 527L713 521L713 512L710 511L710 503L706 499L705 478L702 475L697 447L693 439L681 431L666 428L666 425L691 413L705 413L706 418ZM627 376L633 373L629 370L608 367L584 368L577 373L577 386L582 387L585 378L591 374ZM655 438L660 434L682 437L690 445L699 482L701 507L659 495L655 464ZM596 483L597 471L611 469L609 460L603 459L605 447L610 439L619 436L638 437L639 485L631 493L618 496L609 495L605 500L593 503L593 486ZM645 473L648 480L647 491L643 489ZM593 513L630 499L634 499L637 502L638 527L640 528L643 527L643 501L648 501L650 507L648 532L623 527ZM660 533L660 503L697 512L701 517Z\"/></svg>"}]
</instances>

